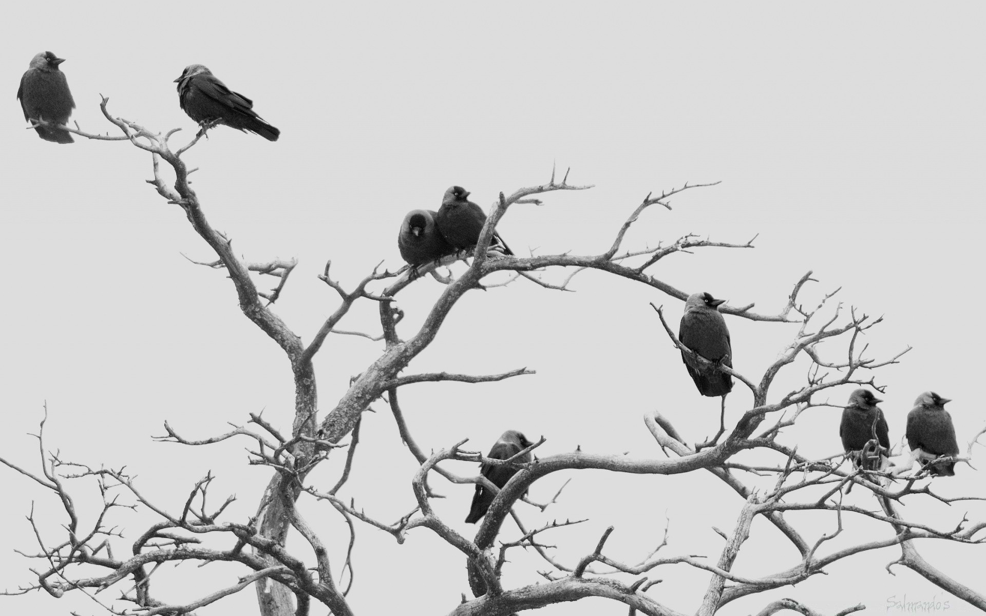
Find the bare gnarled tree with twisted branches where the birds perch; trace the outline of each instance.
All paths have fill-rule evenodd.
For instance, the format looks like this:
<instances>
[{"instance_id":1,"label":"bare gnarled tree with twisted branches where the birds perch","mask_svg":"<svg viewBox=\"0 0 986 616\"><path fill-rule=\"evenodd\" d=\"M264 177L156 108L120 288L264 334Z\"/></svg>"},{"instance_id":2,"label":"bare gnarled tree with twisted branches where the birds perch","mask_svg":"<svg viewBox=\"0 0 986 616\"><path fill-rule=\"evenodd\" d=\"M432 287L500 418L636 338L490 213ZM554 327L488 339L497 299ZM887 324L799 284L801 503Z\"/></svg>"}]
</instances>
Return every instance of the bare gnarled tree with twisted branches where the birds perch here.
<instances>
[{"instance_id":1,"label":"bare gnarled tree with twisted branches where the birds perch","mask_svg":"<svg viewBox=\"0 0 986 616\"><path fill-rule=\"evenodd\" d=\"M67 517L65 534L61 540L53 541L39 528L34 515L29 517L40 547L38 553L29 555L40 562L40 566L33 569L37 581L19 590L9 590L8 594L43 589L52 596L60 597L67 592L81 592L110 613L151 616L190 613L254 584L259 610L264 616L307 615L315 608L314 604L322 605L332 614L344 616L354 613L347 595L352 585L352 550L356 528L376 528L392 535L398 543L403 543L410 529L421 526L431 529L464 557L466 566L463 575L468 577L474 597L462 597L458 607L451 612L457 616L513 614L589 596L623 603L629 606L631 614L675 615L679 612L657 601L649 590L659 582L656 575L662 568L681 564L708 575L707 588L703 596L696 597L695 610L700 616L708 616L740 597L805 581L826 573L826 568L835 563L887 546L899 546L900 549L899 559L887 565L888 570L894 565L909 568L970 605L986 610L986 595L955 582L933 567L915 546L916 539L981 543L986 539L982 533L986 520L963 518L953 527L936 527L908 519L900 508L900 505L915 499L934 499L942 507L963 500L983 499L974 496L942 497L932 490L931 484L924 481L927 472L920 469L900 477L881 471L851 470L850 465L844 463L846 456L841 452L822 459L809 459L799 454L797 447L785 444L785 429L794 426L800 416L814 408L832 406L822 401L825 392L847 384L868 385L880 390L876 371L897 363L909 350L886 353L883 359L868 357L869 348L863 344L861 336L878 325L881 318L872 318L857 308L846 308L835 303L833 298L836 292L822 294L807 304L802 296L806 294L809 283L814 282L811 272L794 284L786 305L776 313L754 312L752 303L741 307L722 307L723 312L734 317L762 321L764 327L773 326L771 323L789 323L794 324L792 326L796 327L796 331L790 344L762 375L746 376L729 367L715 367L734 376L741 386L748 388L753 403L744 410L735 425L727 426L724 402L719 430L704 443L686 443L670 420L670 413L658 409L646 412L644 423L665 453L663 457L630 458L619 453L575 450L544 453L529 463L517 461L530 449L538 454L546 450L546 447L542 448L545 444L543 438L509 460L489 459L479 452L464 450L464 440L431 453L418 445L398 403L397 392L401 386L422 381L478 383L533 374L526 368L519 368L482 376L450 373L401 375L435 339L460 298L468 292L511 284L520 278L540 285L545 293L565 291L576 275L594 269L654 288L669 299L683 301L687 293L655 278L649 273L653 266L677 252L707 247L750 248L753 247L753 240L730 243L686 235L670 243L659 242L655 247L626 248L624 238L648 208L660 205L670 209L669 197L672 195L711 184L686 183L660 195L649 194L632 210L599 254L505 257L495 251L488 252L493 230L511 206L539 204L538 195L549 192L591 187L570 184L567 172L560 179L552 172L550 180L544 184L520 188L510 195L500 194L478 245L470 255L453 255L441 263L422 266L420 271L414 272L406 266L395 272L381 271L378 266L351 290L331 277L331 262L326 263L319 278L337 293L339 304L325 316L312 341L305 344L272 309L284 293L296 262L280 259L247 262L234 253L231 240L217 232L205 217L202 204L188 179L195 170L188 170L182 160L182 155L198 142L202 133L188 144L172 150L170 139L176 130L155 133L135 122L111 115L106 103L104 99L101 105L103 113L119 129L121 136L94 135L78 127L63 129L90 139L129 141L151 154L154 177L147 181L170 204L184 211L192 229L216 253L214 261L199 264L226 270L243 313L287 355L295 382L295 415L288 430L286 426L275 426L262 416L251 413L246 425L235 426L226 434L205 439L186 438L181 436L183 429L165 424L165 435L159 437L161 441L207 446L230 439L244 440L250 447L249 462L272 469L270 482L257 504L255 514L239 520L228 519L226 513L232 497L220 498L218 504L213 501L210 505L211 474L206 474L192 487L184 502L169 505L156 503L125 469L94 467L61 459L44 442L42 420L36 435L40 454L39 471L10 460L0 461L51 491ZM166 166L162 166L162 162ZM174 172L174 183L166 179L163 167ZM439 267L469 257L471 262L458 276L438 273ZM507 272L507 278L501 282L488 282L487 277L497 272ZM257 288L251 273L278 280L272 290L263 291ZM418 280L419 275L429 273L445 285L444 291L430 308L421 328L407 339L401 339L397 335L397 324L403 312L397 306L397 294ZM340 327L352 308L374 304L379 310L380 334ZM663 324L667 333L669 346L693 355L694 361L700 365L713 368L711 363L680 343L665 317L663 307L656 306L655 310L656 319ZM313 358L333 334L360 335L383 341L385 347L373 363L362 367L338 403L327 412L319 413ZM776 386L777 377L782 371L787 374L795 367L805 371L805 380L791 389ZM340 496L343 489L352 488L347 480L360 442L361 416L372 403L381 399L389 406L400 437L417 463L416 470L407 475L416 506L391 523L357 508L352 498L347 500ZM972 445L982 434L980 432L972 439L966 454L958 459L968 461L971 458ZM347 436L348 442L343 443ZM312 471L323 460L329 456L343 455L343 469L331 485L318 485L309 480ZM453 473L447 461L505 464L518 468L519 472L498 490L482 476ZM725 546L718 559L710 560L691 554L665 555L666 533L666 540L642 555L638 562L620 562L605 553L606 541L612 532L610 527L599 537L591 553L577 562L562 562L542 541L543 537L562 532L561 529L584 520L552 521L528 530L514 506L526 500L544 511L559 498L561 489L549 502L539 504L528 500L528 488L536 480L552 473L582 469L654 475L711 473L725 484L724 492L735 492L739 497L737 503L742 503L736 526L732 531L720 531ZM458 533L436 513L432 503L436 494L429 485L432 473L453 483L479 483L498 493L474 537ZM82 486L81 489L91 489L95 485L102 509L95 514L80 515L76 505L76 485ZM845 503L843 496L852 486L860 486L875 495L880 511ZM324 541L300 513L300 499L323 504L339 513L339 523L345 525L351 537L345 552L330 554ZM140 536L123 537L113 523L116 510L120 508L153 512L159 521ZM829 516L835 530L819 534L812 524L803 522L801 515L805 512ZM757 515L776 527L800 557L795 562L779 565L778 571L770 575L750 576L738 572L735 563ZM514 519L520 534L508 536L503 531L508 516ZM92 521L84 523L84 517L92 518ZM882 524L891 532L871 541L829 549L831 544L828 542L842 532L844 525L864 518ZM285 548L292 529L304 539L304 553L298 550L289 552ZM496 544L498 537L499 545ZM124 540L131 542L129 554L117 556ZM548 569L540 572L539 579L531 576L532 580L527 585L507 587L501 574L509 562L509 555L518 548L535 551ZM153 591L154 575L163 567L181 562L220 561L243 567L243 577L238 583L180 604L170 603ZM778 562L781 562L780 556ZM348 583L343 586L341 581L346 579ZM104 599L99 594L110 587L119 593L118 598ZM847 605L840 614L862 608L862 605ZM773 614L782 609L807 615L818 613L793 598L766 603L759 613Z\"/></svg>"}]
</instances>

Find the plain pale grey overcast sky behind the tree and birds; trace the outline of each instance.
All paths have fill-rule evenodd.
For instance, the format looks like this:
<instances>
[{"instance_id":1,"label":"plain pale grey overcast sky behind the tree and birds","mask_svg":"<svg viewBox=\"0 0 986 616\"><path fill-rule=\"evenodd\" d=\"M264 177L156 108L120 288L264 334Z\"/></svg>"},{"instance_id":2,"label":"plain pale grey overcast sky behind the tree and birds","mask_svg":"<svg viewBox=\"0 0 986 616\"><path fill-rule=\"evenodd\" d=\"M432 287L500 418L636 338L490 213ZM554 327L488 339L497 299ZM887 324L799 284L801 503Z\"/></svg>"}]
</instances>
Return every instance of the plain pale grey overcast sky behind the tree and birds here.
<instances>
[{"instance_id":1,"label":"plain pale grey overcast sky behind the tree and birds","mask_svg":"<svg viewBox=\"0 0 986 616\"><path fill-rule=\"evenodd\" d=\"M688 293L708 291L733 306L755 302L757 311L776 312L813 270L820 282L806 287L806 303L841 287L836 298L845 308L885 316L866 337L869 357L913 347L878 376L886 385L880 397L891 441L903 436L914 398L932 389L954 400L948 408L964 446L984 419L977 397L984 12L975 3L9 6L0 36L0 83L10 96L0 122L0 314L7 323L0 455L36 471L36 442L27 434L36 431L46 401L46 446L64 459L125 464L145 495L171 511L211 469L212 501L237 494L230 515L244 520L269 477L246 465L246 441L188 448L151 436L163 434L168 420L183 436L205 438L261 409L288 431L294 400L282 352L239 311L224 274L182 256L214 258L180 209L144 182L149 155L78 137L59 146L24 129L14 94L42 50L67 59L62 69L78 105L73 119L85 130L112 128L99 110L102 94L111 112L155 131L180 126L176 143L190 138L195 126L178 107L172 81L191 63L208 66L281 129L281 139L269 143L219 127L185 159L200 168L194 187L209 220L247 260L300 259L276 311L306 342L336 308L335 292L317 280L325 261L332 259L333 275L347 288L382 260L391 271L400 267L395 236L404 214L438 209L452 184L488 208L499 191L547 181L554 164L571 168L572 183L596 187L548 194L542 207L516 206L499 229L519 253L595 254L648 192L721 180L674 197L672 211L648 210L625 246L686 233L740 243L759 234L753 250L696 250L669 257L651 273ZM689 440L714 431L718 399L697 394L649 306L665 305L676 325L681 303L595 272L580 274L572 286L577 293L560 294L521 281L458 303L406 374L528 367L537 375L403 388L401 403L420 445L437 449L468 438L486 451L501 432L517 429L548 439L541 455L581 445L661 457L641 419L656 409ZM426 279L401 293L401 335L416 331L441 290ZM736 317L727 322L734 364L754 379L796 331ZM358 305L341 326L377 333L376 305ZM316 360L322 411L382 348L360 338L329 340ZM804 369L792 368L771 399L797 385ZM850 391L833 390L830 399L843 404ZM735 421L750 400L738 384L728 418ZM377 414L365 415L346 496L389 522L413 507L415 464L386 406L374 408ZM835 453L838 416L838 409L815 409L782 441L805 455ZM982 456L980 447L973 452ZM312 479L327 487L337 473L333 460ZM957 473L936 480L936 491L984 496L981 471L962 465ZM667 556L705 554L714 562L722 540L711 528L732 532L742 502L706 475L557 473L531 490L544 501L572 477L557 505L544 514L525 505L518 511L528 527L591 518L545 537L568 564L591 552L610 524L616 530L607 555L636 562L661 541L666 516ZM0 512L0 585L14 588L34 579L30 563L13 551L36 551L25 519L32 502L49 542L62 541L64 513L26 478L9 470L0 477L8 495ZM76 484L80 507L91 506L94 485ZM460 521L471 487L440 479L434 485L449 497L437 503L439 513L472 536ZM905 511L941 527L966 511L973 519L986 515L981 504L929 501L912 498ZM859 489L847 502L878 507ZM338 572L346 540L341 518L327 507L306 505L304 513L329 542ZM125 557L149 518L117 515L113 523L127 539L115 554ZM830 515L795 521L809 540L836 527ZM846 527L833 548L889 532L856 518ZM351 594L357 613L442 614L468 592L463 559L430 531L410 532L402 546L367 526L358 532ZM508 522L503 532L514 537L517 529ZM743 575L797 562L763 520L753 532L737 564ZM297 541L289 548L309 557ZM948 575L986 591L981 569L969 566L986 548L919 548ZM747 597L722 613L756 613L782 596L826 613L857 602L868 613L904 613L887 605L905 593L907 600L950 600L899 567L895 577L887 574L883 567L898 556L897 548L864 555L832 567L829 576ZM521 554L512 560L508 585L536 582L534 572L547 567ZM190 600L240 575L243 569L225 565L184 565L157 574L154 593ZM685 566L651 577L665 582L650 595L684 612L696 609L708 582ZM101 613L81 595L0 599L5 613L72 609ZM247 590L200 613L255 609ZM945 613L971 611L951 598ZM587 599L541 613L626 608Z\"/></svg>"}]
</instances>

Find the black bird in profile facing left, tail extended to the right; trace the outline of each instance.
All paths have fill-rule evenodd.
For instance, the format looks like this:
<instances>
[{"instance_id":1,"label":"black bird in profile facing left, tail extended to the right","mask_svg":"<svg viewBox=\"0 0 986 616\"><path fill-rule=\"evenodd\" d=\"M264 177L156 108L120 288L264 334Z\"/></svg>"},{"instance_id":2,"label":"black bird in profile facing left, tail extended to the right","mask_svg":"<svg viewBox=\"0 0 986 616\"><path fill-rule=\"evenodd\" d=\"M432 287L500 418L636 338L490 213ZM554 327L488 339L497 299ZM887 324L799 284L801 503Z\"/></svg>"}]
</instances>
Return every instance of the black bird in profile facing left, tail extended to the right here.
<instances>
[{"instance_id":1,"label":"black bird in profile facing left, tail extended to the right","mask_svg":"<svg viewBox=\"0 0 986 616\"><path fill-rule=\"evenodd\" d=\"M233 92L201 64L189 64L175 80L178 103L188 117L199 124L215 122L248 130L269 141L277 141L277 130L253 110L253 102Z\"/></svg>"}]
</instances>

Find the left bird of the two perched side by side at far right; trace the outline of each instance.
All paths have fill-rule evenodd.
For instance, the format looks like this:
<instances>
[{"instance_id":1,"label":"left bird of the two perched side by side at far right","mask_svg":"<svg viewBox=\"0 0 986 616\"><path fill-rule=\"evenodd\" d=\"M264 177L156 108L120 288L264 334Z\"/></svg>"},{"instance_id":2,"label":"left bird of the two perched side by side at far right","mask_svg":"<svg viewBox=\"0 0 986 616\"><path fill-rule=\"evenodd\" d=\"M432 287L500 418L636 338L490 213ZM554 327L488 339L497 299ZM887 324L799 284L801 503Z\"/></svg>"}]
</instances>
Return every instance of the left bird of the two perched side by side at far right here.
<instances>
[{"instance_id":1,"label":"left bird of the two perched side by side at far right","mask_svg":"<svg viewBox=\"0 0 986 616\"><path fill-rule=\"evenodd\" d=\"M842 447L853 460L854 468L880 470L890 450L890 437L883 411L877 406L882 402L869 389L857 389L849 396L842 409L839 437ZM880 448L867 446L876 439Z\"/></svg>"}]
</instances>

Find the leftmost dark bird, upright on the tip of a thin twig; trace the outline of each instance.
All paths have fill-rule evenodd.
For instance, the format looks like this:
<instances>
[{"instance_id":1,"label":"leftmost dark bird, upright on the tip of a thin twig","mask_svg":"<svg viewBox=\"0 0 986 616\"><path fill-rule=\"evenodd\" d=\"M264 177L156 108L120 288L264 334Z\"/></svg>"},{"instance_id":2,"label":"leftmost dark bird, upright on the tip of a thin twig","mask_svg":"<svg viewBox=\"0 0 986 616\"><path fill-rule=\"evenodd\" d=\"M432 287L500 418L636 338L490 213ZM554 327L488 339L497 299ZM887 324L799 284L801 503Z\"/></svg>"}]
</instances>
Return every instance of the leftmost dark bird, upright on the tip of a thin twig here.
<instances>
[{"instance_id":1,"label":"leftmost dark bird, upright on the tip of a thin twig","mask_svg":"<svg viewBox=\"0 0 986 616\"><path fill-rule=\"evenodd\" d=\"M53 124L65 124L75 108L72 93L68 89L65 73L58 65L65 58L56 57L50 51L41 51L31 59L31 67L21 77L17 98L24 109L24 119L44 120ZM55 143L74 143L72 133L48 126L35 127L37 136Z\"/></svg>"}]
</instances>

